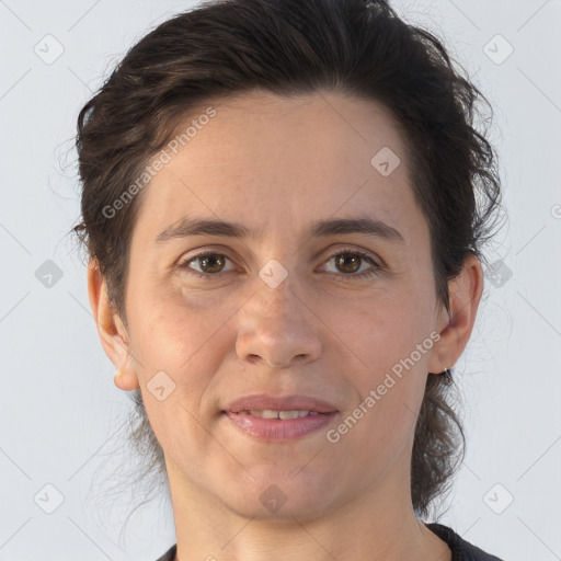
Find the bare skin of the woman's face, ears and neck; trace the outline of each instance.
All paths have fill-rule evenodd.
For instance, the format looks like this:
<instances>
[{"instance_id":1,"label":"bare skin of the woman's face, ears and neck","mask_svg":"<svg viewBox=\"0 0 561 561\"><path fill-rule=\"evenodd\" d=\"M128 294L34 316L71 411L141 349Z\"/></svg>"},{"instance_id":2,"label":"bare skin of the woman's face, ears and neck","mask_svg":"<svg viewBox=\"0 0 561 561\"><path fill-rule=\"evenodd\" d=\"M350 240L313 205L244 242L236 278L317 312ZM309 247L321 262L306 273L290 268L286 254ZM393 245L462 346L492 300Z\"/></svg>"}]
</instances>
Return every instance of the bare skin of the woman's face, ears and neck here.
<instances>
[{"instance_id":1,"label":"bare skin of the woman's face, ears and neck","mask_svg":"<svg viewBox=\"0 0 561 561\"><path fill-rule=\"evenodd\" d=\"M100 337L121 373L115 385L141 389L164 451L176 559L450 560L414 515L411 449L427 373L454 366L470 337L480 262L468 259L449 284L448 313L435 295L403 142L381 105L327 92L252 92L213 106L217 115L144 193L128 329L94 260L88 272ZM385 146L401 159L388 176L370 164ZM154 242L184 216L239 221L261 237ZM364 216L403 241L307 233L319 219ZM201 250L228 259L204 268L190 261ZM332 259L353 251L381 270L360 278L375 265L358 260L356 271ZM288 273L276 288L259 276L272 259ZM439 340L336 444L324 430L264 443L220 413L247 393L306 393L339 410L328 428L336 427L433 332ZM160 370L175 383L162 401L147 389ZM276 512L260 501L273 483L286 496Z\"/></svg>"}]
</instances>

